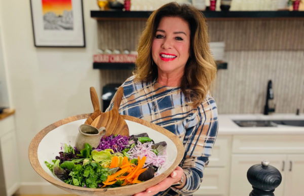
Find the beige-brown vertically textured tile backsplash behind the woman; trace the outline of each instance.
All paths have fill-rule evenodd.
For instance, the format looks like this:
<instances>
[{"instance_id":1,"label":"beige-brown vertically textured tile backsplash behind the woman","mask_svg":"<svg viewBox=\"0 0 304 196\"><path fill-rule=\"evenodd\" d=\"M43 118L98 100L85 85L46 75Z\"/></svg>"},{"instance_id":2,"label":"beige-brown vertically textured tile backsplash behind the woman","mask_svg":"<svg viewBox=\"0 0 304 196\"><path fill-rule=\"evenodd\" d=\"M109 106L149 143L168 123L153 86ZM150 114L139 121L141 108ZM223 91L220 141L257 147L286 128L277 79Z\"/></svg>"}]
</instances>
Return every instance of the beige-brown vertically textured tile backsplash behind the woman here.
<instances>
[{"instance_id":1,"label":"beige-brown vertically textured tile backsplash behind the woman","mask_svg":"<svg viewBox=\"0 0 304 196\"><path fill-rule=\"evenodd\" d=\"M227 70L218 70L213 96L220 114L262 113L268 80L275 113L304 113L304 20L210 20L211 42L225 42ZM143 20L98 21L99 49L136 50ZM100 70L101 86L123 82L126 70Z\"/></svg>"}]
</instances>

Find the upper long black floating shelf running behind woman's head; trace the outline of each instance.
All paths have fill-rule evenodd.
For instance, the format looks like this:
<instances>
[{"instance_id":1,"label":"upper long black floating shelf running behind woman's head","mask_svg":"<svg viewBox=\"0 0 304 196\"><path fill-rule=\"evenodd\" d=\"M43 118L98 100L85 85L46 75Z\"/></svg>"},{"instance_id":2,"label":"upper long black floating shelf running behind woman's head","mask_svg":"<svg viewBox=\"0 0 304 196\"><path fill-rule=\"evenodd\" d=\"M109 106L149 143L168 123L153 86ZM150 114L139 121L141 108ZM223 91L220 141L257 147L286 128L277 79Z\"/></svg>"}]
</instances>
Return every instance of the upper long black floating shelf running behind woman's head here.
<instances>
[{"instance_id":1,"label":"upper long black floating shelf running behind woman's head","mask_svg":"<svg viewBox=\"0 0 304 196\"><path fill-rule=\"evenodd\" d=\"M91 17L107 19L145 19L151 11L91 11ZM206 18L304 18L304 11L203 11Z\"/></svg>"}]
</instances>

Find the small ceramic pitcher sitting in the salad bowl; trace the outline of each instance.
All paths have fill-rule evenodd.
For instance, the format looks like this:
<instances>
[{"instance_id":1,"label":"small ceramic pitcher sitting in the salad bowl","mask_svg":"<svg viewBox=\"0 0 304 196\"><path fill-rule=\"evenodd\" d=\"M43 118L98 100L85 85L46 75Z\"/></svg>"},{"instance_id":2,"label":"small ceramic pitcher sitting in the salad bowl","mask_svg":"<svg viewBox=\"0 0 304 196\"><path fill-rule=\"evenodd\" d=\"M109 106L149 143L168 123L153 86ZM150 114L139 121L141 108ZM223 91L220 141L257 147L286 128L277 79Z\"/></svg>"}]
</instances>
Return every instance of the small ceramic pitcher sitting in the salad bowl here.
<instances>
[{"instance_id":1,"label":"small ceramic pitcher sitting in the salad bowl","mask_svg":"<svg viewBox=\"0 0 304 196\"><path fill-rule=\"evenodd\" d=\"M105 127L100 127L97 129L89 124L80 125L78 130L79 133L75 141L75 147L78 150L84 149L86 143L90 144L94 148L97 148L101 137L105 134Z\"/></svg>"}]
</instances>

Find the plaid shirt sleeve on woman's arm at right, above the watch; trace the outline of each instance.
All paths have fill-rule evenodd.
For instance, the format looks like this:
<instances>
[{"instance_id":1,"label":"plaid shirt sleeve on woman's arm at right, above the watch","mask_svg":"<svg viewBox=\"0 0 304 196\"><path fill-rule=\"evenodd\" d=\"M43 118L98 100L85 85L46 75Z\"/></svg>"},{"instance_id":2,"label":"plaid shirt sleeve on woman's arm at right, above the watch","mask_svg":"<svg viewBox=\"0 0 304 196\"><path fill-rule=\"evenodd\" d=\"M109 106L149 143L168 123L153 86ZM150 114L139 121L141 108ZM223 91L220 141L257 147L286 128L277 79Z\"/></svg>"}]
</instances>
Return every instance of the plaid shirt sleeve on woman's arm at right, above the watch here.
<instances>
[{"instance_id":1,"label":"plaid shirt sleeve on woman's arm at right, above the watch","mask_svg":"<svg viewBox=\"0 0 304 196\"><path fill-rule=\"evenodd\" d=\"M191 195L201 185L204 168L209 163L209 156L218 130L217 107L211 96L201 104L187 122L183 139L185 148L180 167L186 176L186 183L181 189L171 187L179 194Z\"/></svg>"}]
</instances>

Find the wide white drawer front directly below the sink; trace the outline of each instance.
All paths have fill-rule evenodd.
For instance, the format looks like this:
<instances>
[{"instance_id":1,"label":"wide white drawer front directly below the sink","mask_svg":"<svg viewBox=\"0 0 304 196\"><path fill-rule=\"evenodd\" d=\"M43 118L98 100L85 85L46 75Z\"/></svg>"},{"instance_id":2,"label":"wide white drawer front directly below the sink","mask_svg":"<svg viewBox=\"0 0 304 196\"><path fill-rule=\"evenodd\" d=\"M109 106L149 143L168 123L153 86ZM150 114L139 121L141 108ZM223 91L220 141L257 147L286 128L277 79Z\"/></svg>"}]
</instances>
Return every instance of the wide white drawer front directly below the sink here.
<instances>
[{"instance_id":1,"label":"wide white drawer front directly below the sink","mask_svg":"<svg viewBox=\"0 0 304 196\"><path fill-rule=\"evenodd\" d=\"M233 153L304 153L303 135L233 136Z\"/></svg>"}]
</instances>

